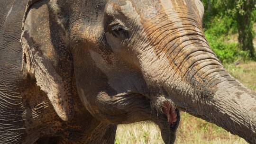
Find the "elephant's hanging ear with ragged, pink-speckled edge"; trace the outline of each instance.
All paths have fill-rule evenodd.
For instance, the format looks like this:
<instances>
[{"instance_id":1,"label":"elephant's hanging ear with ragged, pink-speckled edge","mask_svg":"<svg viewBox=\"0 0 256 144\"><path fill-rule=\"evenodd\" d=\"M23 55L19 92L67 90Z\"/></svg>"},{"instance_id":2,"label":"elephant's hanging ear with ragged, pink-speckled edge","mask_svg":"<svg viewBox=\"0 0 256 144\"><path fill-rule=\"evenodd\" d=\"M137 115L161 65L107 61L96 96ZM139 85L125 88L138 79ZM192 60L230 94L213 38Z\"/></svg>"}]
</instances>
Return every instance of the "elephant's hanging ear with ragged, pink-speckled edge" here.
<instances>
[{"instance_id":1,"label":"elephant's hanging ear with ragged, pink-speckled edge","mask_svg":"<svg viewBox=\"0 0 256 144\"><path fill-rule=\"evenodd\" d=\"M68 121L73 117L72 55L63 24L50 2L28 0L21 35L22 71L36 78L57 115Z\"/></svg>"}]
</instances>

